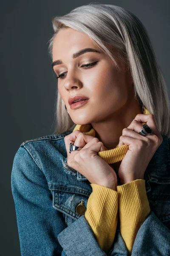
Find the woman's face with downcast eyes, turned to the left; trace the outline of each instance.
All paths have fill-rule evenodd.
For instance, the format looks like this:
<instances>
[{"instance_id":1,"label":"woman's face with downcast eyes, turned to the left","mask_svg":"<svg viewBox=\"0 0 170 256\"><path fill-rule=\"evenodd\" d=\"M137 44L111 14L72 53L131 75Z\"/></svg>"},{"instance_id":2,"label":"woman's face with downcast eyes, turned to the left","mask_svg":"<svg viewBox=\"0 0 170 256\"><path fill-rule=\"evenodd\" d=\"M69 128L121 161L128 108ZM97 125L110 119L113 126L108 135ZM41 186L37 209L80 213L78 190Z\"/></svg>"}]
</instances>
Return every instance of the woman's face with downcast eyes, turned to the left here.
<instances>
[{"instance_id":1,"label":"woman's face with downcast eyes, turned to the left","mask_svg":"<svg viewBox=\"0 0 170 256\"><path fill-rule=\"evenodd\" d=\"M85 52L77 58L72 55L85 48L99 52ZM116 51L115 51L116 56ZM114 62L95 44L88 35L68 28L58 32L53 44L53 62L58 78L58 91L64 101L69 115L75 124L83 125L101 122L118 115L122 108L130 104L133 86L127 64L119 58L117 70ZM93 65L84 65L94 63ZM69 97L75 95L88 97L88 102L79 108L71 109Z\"/></svg>"}]
</instances>

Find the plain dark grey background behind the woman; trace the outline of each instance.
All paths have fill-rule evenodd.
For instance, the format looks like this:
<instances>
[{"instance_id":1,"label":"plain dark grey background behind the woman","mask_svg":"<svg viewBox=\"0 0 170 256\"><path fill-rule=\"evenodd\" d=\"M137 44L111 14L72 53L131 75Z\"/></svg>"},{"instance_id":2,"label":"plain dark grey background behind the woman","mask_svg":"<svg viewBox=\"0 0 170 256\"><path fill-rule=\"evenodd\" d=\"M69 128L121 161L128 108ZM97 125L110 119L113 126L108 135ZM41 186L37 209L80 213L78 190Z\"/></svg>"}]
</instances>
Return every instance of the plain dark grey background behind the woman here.
<instances>
[{"instance_id":1,"label":"plain dark grey background behind the woman","mask_svg":"<svg viewBox=\"0 0 170 256\"><path fill-rule=\"evenodd\" d=\"M20 144L53 134L56 78L48 56L52 17L87 0L0 1L0 255L20 256L11 169ZM133 12L146 27L169 88L170 1L99 0Z\"/></svg>"}]
</instances>

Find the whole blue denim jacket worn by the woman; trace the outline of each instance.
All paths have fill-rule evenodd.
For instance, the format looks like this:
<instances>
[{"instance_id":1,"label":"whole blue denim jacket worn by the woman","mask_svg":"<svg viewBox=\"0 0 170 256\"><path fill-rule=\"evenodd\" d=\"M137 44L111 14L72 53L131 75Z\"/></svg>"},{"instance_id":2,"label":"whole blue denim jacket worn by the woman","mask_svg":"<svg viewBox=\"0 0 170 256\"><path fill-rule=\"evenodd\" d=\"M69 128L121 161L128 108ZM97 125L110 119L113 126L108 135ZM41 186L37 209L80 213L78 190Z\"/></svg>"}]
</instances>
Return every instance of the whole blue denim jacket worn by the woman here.
<instances>
[{"instance_id":1,"label":"whole blue denim jacket worn by the woman","mask_svg":"<svg viewBox=\"0 0 170 256\"><path fill-rule=\"evenodd\" d=\"M84 215L75 210L82 200L87 207L92 188L67 164L64 137L70 133L27 140L14 156L11 190L21 255L128 256L119 217L106 254ZM170 256L170 139L162 137L144 174L151 212L139 228L132 256Z\"/></svg>"}]
</instances>

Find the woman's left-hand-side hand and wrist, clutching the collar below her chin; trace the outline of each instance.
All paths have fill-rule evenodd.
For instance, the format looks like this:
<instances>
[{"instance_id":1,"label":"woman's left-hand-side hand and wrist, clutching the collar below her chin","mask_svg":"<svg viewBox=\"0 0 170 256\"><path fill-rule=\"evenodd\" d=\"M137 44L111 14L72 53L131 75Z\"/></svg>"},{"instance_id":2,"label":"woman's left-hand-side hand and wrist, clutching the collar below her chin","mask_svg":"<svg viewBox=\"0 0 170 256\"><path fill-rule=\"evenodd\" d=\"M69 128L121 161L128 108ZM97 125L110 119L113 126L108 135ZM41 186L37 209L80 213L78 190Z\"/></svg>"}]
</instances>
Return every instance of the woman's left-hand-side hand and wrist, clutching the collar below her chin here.
<instances>
[{"instance_id":1,"label":"woman's left-hand-side hand and wrist, clutching the collar below her chin","mask_svg":"<svg viewBox=\"0 0 170 256\"><path fill-rule=\"evenodd\" d=\"M85 176L90 183L117 190L117 176L113 168L97 155L104 151L104 145L98 138L82 133L79 130L64 137L67 150L67 164ZM70 143L82 147L81 150L69 153Z\"/></svg>"}]
</instances>

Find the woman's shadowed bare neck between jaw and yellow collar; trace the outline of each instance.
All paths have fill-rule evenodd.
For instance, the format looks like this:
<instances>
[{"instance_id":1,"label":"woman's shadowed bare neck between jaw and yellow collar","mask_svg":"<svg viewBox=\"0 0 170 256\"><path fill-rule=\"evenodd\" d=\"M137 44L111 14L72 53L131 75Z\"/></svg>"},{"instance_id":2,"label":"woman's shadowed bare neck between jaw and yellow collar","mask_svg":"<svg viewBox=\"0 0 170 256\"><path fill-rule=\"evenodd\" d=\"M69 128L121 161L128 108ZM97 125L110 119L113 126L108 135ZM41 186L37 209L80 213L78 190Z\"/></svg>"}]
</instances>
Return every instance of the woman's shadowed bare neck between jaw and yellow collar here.
<instances>
[{"instance_id":1,"label":"woman's shadowed bare neck between jaw and yellow collar","mask_svg":"<svg viewBox=\"0 0 170 256\"><path fill-rule=\"evenodd\" d=\"M128 127L139 113L142 113L141 107L134 100L130 105L124 105L104 121L92 122L91 125L99 141L102 141L106 148L112 149L119 144L119 137L122 135L122 130Z\"/></svg>"}]
</instances>

